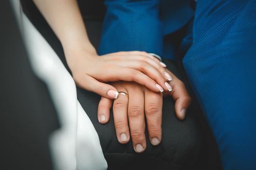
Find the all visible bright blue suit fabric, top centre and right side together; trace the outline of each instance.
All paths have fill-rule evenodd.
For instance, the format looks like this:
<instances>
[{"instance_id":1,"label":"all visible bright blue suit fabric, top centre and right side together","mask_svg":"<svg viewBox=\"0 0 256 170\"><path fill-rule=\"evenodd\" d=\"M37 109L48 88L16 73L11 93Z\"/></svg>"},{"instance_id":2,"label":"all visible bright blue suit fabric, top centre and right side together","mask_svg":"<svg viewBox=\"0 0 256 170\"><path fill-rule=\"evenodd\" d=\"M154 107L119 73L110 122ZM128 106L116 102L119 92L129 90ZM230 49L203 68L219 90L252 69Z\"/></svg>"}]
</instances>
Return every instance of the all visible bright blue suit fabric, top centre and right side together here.
<instances>
[{"instance_id":1,"label":"all visible bright blue suit fabric, top centre and right side together","mask_svg":"<svg viewBox=\"0 0 256 170\"><path fill-rule=\"evenodd\" d=\"M170 1L105 0L99 54L139 50L173 59L173 44L163 37L193 11L189 1ZM183 64L223 168L256 170L256 0L197 0L193 27L181 43L186 51L193 40Z\"/></svg>"}]
</instances>

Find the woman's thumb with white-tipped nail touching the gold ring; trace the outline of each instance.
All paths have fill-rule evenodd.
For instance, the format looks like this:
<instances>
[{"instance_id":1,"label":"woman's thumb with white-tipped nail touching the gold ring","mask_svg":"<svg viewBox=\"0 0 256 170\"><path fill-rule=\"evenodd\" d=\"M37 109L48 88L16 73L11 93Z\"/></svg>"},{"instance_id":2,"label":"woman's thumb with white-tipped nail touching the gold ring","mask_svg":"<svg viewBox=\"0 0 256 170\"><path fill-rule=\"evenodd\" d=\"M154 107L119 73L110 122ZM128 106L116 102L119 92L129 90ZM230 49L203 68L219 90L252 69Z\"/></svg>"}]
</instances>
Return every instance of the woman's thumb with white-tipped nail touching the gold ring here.
<instances>
[{"instance_id":1,"label":"woman's thumb with white-tipped nail touching the gold ring","mask_svg":"<svg viewBox=\"0 0 256 170\"><path fill-rule=\"evenodd\" d=\"M75 80L77 85L85 90L97 93L98 95L108 98L108 99L117 99L118 90L112 86L105 83L101 83L95 78L85 75L79 80Z\"/></svg>"}]
</instances>

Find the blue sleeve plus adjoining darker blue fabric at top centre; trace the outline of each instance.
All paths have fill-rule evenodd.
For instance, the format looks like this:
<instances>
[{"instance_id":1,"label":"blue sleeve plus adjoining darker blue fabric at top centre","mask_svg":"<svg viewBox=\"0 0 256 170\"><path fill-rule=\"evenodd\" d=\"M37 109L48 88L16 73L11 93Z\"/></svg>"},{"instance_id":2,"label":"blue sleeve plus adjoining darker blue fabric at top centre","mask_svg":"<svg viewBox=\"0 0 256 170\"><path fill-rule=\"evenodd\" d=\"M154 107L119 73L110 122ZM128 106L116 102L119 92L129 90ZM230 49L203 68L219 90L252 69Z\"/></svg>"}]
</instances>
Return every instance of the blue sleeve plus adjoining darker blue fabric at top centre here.
<instances>
[{"instance_id":1,"label":"blue sleeve plus adjoining darker blue fabric at top centre","mask_svg":"<svg viewBox=\"0 0 256 170\"><path fill-rule=\"evenodd\" d=\"M175 59L173 48L163 51L163 36L177 31L194 16L190 2L104 0L107 11L98 53L138 50Z\"/></svg>"}]
</instances>

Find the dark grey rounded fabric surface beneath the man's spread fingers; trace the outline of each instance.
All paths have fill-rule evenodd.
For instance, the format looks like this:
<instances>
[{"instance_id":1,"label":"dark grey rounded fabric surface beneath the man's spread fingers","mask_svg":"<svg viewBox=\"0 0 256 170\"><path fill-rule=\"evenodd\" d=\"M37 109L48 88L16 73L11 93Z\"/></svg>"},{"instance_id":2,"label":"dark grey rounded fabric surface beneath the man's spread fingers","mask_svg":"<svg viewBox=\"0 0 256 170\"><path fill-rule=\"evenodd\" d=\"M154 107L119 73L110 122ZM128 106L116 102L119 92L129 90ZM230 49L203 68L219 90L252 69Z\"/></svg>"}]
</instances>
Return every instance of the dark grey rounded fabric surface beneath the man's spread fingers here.
<instances>
[{"instance_id":1,"label":"dark grey rounded fabric surface beneath the man's spread fingers","mask_svg":"<svg viewBox=\"0 0 256 170\"><path fill-rule=\"evenodd\" d=\"M174 70L174 65L171 62L166 64L172 66L170 69ZM159 163L163 169L175 169L180 166L189 166L197 159L197 154L200 151L201 134L197 127L195 114L190 109L186 119L178 120L174 112L174 101L171 97L166 97L163 100L162 142L158 146L151 145L146 130L147 148L144 153L138 154L134 152L131 140L127 144L118 143L112 110L107 124L98 122L97 109L100 97L79 87L77 92L79 102L98 132L102 151L109 167L112 163L115 163L115 167L117 167L117 162L120 163L120 166L126 167L136 160L139 160L140 164L145 160L148 164L150 160L154 166L159 167Z\"/></svg>"}]
</instances>

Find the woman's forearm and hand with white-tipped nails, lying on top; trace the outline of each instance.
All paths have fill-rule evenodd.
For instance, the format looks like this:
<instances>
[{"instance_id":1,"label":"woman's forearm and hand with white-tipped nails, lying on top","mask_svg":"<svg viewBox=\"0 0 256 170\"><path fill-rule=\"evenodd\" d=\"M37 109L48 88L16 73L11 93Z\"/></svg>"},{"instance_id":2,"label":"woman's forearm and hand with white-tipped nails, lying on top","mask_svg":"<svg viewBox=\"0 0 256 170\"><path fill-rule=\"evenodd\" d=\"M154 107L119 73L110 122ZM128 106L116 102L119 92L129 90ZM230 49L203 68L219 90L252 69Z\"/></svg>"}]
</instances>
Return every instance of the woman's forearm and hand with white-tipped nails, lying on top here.
<instances>
[{"instance_id":1,"label":"woman's forearm and hand with white-tipped nails, lying on top","mask_svg":"<svg viewBox=\"0 0 256 170\"><path fill-rule=\"evenodd\" d=\"M117 89L103 82L134 81L155 92L168 91L164 68L146 52L99 57L87 36L77 0L33 1L59 38L77 85L110 99L117 98Z\"/></svg>"}]
</instances>

